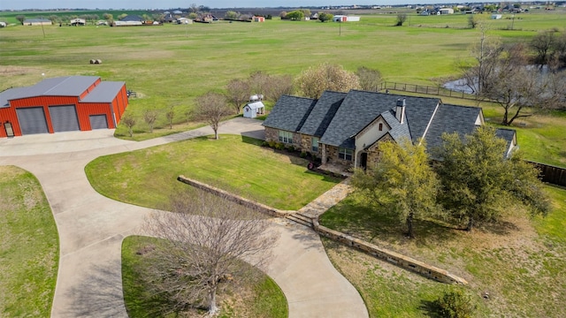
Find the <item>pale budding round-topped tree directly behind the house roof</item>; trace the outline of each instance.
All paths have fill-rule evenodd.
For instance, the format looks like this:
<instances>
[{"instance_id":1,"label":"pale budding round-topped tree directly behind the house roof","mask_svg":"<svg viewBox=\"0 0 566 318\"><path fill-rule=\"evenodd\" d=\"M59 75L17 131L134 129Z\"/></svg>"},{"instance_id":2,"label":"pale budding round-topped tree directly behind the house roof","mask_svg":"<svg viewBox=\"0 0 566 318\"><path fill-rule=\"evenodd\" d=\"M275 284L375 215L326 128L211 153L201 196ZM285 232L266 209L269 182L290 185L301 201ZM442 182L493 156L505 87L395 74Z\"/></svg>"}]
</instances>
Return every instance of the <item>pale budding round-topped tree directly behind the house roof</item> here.
<instances>
[{"instance_id":1,"label":"pale budding round-topped tree directly behind the house roof","mask_svg":"<svg viewBox=\"0 0 566 318\"><path fill-rule=\"evenodd\" d=\"M299 94L318 98L325 90L348 92L360 87L356 74L337 64L318 64L303 71L296 79Z\"/></svg>"}]
</instances>

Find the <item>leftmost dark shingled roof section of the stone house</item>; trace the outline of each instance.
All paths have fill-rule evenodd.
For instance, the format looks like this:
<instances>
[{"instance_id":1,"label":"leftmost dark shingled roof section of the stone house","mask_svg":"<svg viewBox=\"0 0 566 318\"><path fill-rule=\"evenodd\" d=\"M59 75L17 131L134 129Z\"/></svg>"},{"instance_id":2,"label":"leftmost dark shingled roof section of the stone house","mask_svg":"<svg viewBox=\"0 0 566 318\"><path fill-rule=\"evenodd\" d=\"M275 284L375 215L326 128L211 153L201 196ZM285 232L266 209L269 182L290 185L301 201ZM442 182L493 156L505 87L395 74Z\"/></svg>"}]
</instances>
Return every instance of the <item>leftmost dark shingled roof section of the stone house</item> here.
<instances>
[{"instance_id":1,"label":"leftmost dark shingled roof section of the stone house","mask_svg":"<svg viewBox=\"0 0 566 318\"><path fill-rule=\"evenodd\" d=\"M316 102L317 100L312 98L282 95L262 125L288 132L298 132Z\"/></svg>"}]
</instances>

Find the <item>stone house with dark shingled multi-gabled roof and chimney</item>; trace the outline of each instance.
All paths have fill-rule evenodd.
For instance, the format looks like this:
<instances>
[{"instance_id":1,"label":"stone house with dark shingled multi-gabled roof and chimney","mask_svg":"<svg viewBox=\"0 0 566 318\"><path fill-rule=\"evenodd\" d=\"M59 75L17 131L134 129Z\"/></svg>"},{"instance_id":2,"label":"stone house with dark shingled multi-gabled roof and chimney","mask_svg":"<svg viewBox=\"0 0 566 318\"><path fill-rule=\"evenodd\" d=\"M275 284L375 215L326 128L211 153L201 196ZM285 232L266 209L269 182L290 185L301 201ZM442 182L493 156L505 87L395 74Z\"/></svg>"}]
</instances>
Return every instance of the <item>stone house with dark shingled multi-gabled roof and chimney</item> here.
<instances>
[{"instance_id":1,"label":"stone house with dark shingled multi-gabled roof and chimney","mask_svg":"<svg viewBox=\"0 0 566 318\"><path fill-rule=\"evenodd\" d=\"M428 149L442 145L443 133L466 135L484 125L477 107L440 99L351 90L325 91L319 99L283 95L264 121L265 140L281 142L322 158L322 163L365 168L379 160L379 142L423 139ZM497 130L516 147L516 132Z\"/></svg>"}]
</instances>

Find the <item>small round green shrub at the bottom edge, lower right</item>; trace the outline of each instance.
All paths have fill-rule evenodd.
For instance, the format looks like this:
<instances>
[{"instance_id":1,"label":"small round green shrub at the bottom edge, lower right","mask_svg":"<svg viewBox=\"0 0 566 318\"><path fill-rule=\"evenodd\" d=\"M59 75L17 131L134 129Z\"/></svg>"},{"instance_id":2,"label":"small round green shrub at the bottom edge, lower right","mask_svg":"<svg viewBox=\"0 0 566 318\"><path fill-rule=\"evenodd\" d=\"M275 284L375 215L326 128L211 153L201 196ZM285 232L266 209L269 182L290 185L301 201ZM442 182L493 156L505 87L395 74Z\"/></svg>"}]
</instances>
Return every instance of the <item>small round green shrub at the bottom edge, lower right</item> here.
<instances>
[{"instance_id":1,"label":"small round green shrub at the bottom edge, lower right","mask_svg":"<svg viewBox=\"0 0 566 318\"><path fill-rule=\"evenodd\" d=\"M461 290L446 291L434 303L440 317L447 318L470 318L477 308L470 296Z\"/></svg>"}]
</instances>

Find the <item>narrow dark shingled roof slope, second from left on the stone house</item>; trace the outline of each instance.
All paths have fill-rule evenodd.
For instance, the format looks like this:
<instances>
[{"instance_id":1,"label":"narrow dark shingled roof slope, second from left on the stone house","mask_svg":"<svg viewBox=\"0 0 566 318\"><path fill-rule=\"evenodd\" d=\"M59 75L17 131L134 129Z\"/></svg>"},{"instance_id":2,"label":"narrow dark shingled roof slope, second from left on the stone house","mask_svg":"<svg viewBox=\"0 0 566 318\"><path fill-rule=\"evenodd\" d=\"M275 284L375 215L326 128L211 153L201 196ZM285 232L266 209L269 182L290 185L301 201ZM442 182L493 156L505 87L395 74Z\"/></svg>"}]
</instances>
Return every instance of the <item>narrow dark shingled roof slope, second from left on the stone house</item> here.
<instances>
[{"instance_id":1,"label":"narrow dark shingled roof slope, second from left on the stone house","mask_svg":"<svg viewBox=\"0 0 566 318\"><path fill-rule=\"evenodd\" d=\"M299 133L321 137L328 125L330 125L345 97L346 93L325 91L310 111L310 115L307 117L304 125L302 125Z\"/></svg>"}]
</instances>

